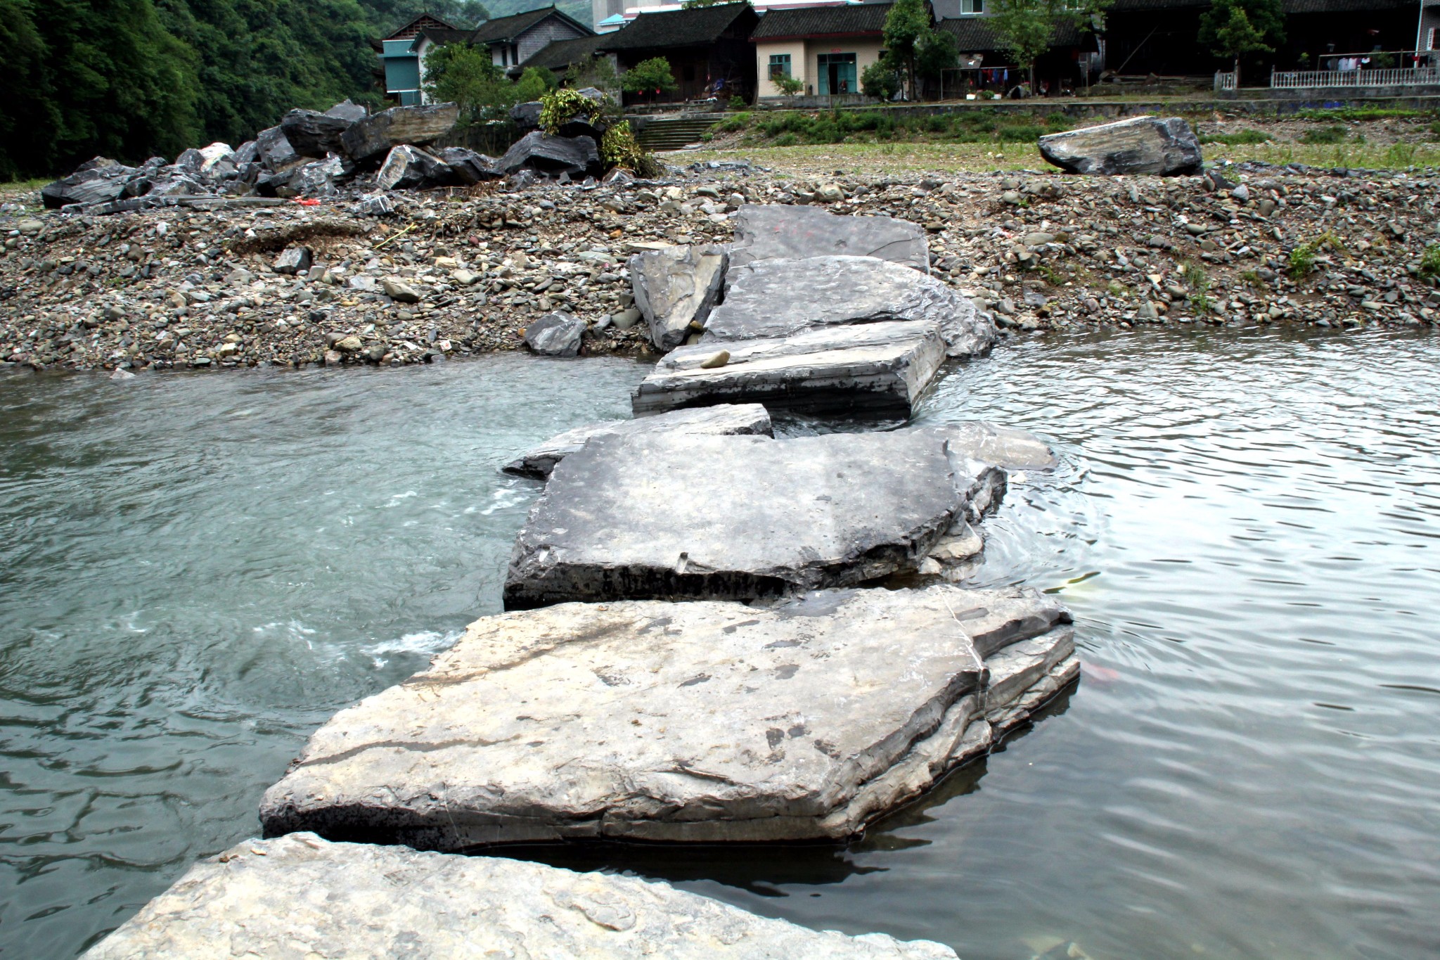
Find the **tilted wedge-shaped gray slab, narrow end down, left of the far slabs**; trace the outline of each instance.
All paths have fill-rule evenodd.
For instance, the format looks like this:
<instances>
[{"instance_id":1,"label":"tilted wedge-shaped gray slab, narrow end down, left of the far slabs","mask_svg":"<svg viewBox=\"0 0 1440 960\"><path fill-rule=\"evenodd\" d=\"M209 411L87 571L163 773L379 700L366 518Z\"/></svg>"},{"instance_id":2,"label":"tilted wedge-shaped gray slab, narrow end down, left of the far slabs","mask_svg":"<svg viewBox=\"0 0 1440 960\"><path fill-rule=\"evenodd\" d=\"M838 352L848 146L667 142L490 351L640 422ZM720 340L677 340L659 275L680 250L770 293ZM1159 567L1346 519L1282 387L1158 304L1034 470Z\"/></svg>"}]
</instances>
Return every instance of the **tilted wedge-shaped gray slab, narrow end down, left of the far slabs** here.
<instances>
[{"instance_id":1,"label":"tilted wedge-shaped gray slab, narrow end down, left of the far slabs","mask_svg":"<svg viewBox=\"0 0 1440 960\"><path fill-rule=\"evenodd\" d=\"M649 324L649 341L674 350L704 324L720 299L729 258L721 246L668 246L629 258L635 305Z\"/></svg>"}]
</instances>

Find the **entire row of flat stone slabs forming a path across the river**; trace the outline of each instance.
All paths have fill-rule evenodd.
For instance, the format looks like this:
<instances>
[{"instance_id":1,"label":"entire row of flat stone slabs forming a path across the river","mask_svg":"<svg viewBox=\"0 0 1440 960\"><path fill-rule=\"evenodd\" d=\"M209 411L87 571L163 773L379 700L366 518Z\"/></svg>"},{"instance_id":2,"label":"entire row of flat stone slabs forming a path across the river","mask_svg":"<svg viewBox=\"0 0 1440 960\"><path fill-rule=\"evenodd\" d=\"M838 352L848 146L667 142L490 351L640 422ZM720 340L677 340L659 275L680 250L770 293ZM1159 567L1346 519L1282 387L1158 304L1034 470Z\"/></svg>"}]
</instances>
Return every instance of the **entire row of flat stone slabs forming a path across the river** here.
<instances>
[{"instance_id":1,"label":"entire row of flat stone slabs forming a path across the river","mask_svg":"<svg viewBox=\"0 0 1440 960\"><path fill-rule=\"evenodd\" d=\"M1005 471L1056 465L1045 443L976 422L772 436L770 409L909 416L948 354L989 348L923 232L804 207L739 227L632 262L657 347L688 343L634 394L644 419L504 468L549 478L510 612L336 714L265 793L274 839L196 865L91 957L955 956L462 855L845 842L1079 676L1056 597L949 583Z\"/></svg>"}]
</instances>

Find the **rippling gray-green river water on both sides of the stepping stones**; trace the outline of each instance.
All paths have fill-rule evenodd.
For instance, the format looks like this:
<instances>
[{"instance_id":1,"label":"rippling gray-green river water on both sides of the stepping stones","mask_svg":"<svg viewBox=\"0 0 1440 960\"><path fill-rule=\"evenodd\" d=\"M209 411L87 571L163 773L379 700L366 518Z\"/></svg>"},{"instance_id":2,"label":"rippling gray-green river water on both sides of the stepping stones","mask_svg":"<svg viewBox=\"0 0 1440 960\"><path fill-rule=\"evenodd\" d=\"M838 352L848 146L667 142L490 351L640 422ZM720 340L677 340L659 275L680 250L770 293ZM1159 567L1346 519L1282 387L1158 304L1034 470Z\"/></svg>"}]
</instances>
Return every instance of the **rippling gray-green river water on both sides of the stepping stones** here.
<instances>
[{"instance_id":1,"label":"rippling gray-green river water on both sides of the stepping stones","mask_svg":"<svg viewBox=\"0 0 1440 960\"><path fill-rule=\"evenodd\" d=\"M537 855L968 960L1436 956L1437 371L1424 334L1274 331L955 368L922 419L1063 455L978 583L1064 596L1079 688L848 849ZM539 486L497 466L644 373L0 377L0 953L253 835L314 727L498 610Z\"/></svg>"}]
</instances>

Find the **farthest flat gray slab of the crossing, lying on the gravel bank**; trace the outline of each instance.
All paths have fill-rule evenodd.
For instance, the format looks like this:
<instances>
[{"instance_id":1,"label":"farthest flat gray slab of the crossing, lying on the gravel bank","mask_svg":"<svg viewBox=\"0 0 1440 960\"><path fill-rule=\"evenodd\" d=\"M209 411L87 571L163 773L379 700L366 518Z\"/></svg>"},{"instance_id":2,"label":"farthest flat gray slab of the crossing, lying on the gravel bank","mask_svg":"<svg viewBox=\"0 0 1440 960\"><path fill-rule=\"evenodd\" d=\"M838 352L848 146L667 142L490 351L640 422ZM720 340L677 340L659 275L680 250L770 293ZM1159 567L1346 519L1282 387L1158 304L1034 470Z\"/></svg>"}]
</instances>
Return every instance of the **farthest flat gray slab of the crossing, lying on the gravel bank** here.
<instances>
[{"instance_id":1,"label":"farthest flat gray slab of the crossing, lying on the gravel bank","mask_svg":"<svg viewBox=\"0 0 1440 960\"><path fill-rule=\"evenodd\" d=\"M878 256L930 272L930 246L919 223L893 217L837 216L819 207L743 204L734 214L730 263L806 256Z\"/></svg>"}]
</instances>

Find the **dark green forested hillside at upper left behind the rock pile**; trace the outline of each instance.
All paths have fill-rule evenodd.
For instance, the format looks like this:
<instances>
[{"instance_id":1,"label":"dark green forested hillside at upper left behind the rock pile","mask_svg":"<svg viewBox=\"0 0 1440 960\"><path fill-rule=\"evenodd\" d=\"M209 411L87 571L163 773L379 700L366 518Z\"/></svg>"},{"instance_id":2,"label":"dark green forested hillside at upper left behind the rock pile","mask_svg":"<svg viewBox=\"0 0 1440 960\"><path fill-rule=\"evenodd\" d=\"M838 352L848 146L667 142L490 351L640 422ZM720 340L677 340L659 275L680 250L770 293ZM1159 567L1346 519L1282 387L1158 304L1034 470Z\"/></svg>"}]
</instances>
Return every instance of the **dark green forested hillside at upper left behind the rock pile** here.
<instances>
[{"instance_id":1,"label":"dark green forested hillside at upper left behind the rock pile","mask_svg":"<svg viewBox=\"0 0 1440 960\"><path fill-rule=\"evenodd\" d=\"M478 0L0 0L0 178L239 144L292 107L379 105L370 40L420 10L487 16Z\"/></svg>"}]
</instances>

